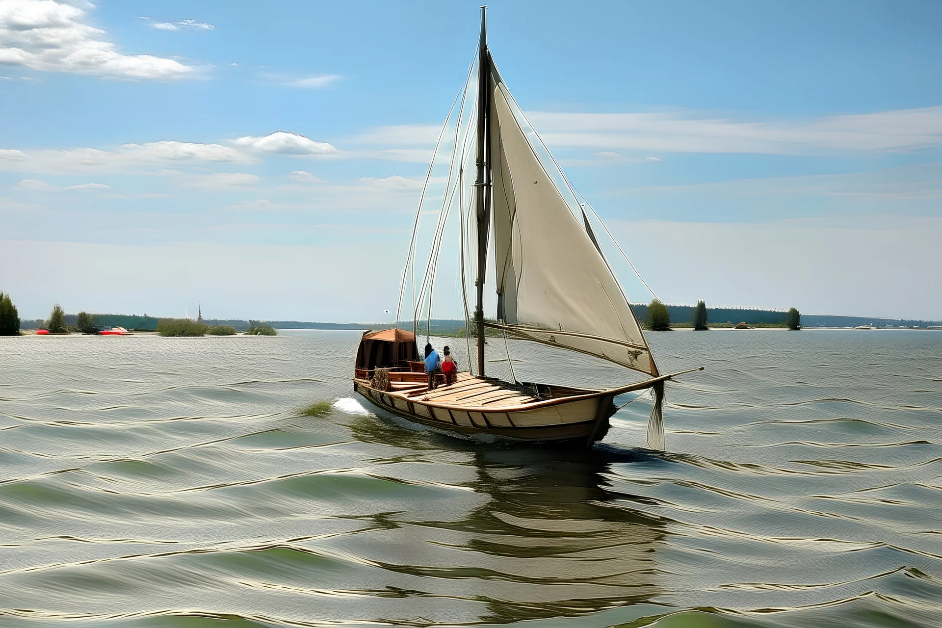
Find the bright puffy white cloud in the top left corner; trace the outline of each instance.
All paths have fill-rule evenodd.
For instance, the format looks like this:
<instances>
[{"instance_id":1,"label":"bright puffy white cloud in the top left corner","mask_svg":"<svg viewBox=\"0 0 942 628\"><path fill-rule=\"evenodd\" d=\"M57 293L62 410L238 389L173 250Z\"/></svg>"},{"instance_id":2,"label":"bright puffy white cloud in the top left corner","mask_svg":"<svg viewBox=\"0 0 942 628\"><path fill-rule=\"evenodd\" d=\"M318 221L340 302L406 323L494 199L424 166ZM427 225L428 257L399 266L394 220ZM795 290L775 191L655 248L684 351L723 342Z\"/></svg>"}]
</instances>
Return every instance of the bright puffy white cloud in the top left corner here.
<instances>
[{"instance_id":1,"label":"bright puffy white cloud in the top left corner","mask_svg":"<svg viewBox=\"0 0 942 628\"><path fill-rule=\"evenodd\" d=\"M125 55L103 39L105 31L85 24L85 18L82 8L56 0L3 0L0 64L130 80L169 80L195 73L171 58Z\"/></svg>"}]
</instances>

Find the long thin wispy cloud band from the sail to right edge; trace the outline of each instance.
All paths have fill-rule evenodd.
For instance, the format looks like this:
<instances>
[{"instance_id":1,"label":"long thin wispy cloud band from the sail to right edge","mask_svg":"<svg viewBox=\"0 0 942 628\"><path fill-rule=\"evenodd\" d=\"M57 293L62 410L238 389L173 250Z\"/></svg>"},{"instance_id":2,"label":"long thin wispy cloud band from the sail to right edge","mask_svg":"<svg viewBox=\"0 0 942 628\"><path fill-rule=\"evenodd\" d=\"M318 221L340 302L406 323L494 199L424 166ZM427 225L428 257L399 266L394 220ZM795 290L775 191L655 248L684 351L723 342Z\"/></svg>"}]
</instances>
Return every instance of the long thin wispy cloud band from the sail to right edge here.
<instances>
[{"instance_id":1,"label":"long thin wispy cloud band from the sail to right edge","mask_svg":"<svg viewBox=\"0 0 942 628\"><path fill-rule=\"evenodd\" d=\"M750 121L691 111L528 113L554 147L667 153L901 152L942 146L942 106L808 120Z\"/></svg>"}]
</instances>

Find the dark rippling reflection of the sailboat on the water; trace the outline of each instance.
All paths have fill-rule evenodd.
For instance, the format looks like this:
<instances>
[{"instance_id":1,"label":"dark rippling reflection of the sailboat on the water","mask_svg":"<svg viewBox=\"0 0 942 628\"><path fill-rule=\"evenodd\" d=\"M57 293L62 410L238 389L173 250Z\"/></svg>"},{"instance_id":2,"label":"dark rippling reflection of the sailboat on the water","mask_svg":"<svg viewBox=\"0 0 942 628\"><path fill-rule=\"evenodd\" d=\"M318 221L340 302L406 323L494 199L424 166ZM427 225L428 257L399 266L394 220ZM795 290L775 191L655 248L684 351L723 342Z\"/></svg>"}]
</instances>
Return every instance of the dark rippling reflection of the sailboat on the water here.
<instances>
[{"instance_id":1,"label":"dark rippling reflection of the sailboat on the water","mask_svg":"<svg viewBox=\"0 0 942 628\"><path fill-rule=\"evenodd\" d=\"M420 564L384 567L426 576L422 591L413 594L450 600L426 600L424 618L502 623L576 617L646 602L661 592L657 552L665 525L625 507L632 496L612 491L606 478L613 463L645 454L609 447L495 449L376 418L350 427L358 440L411 450L390 463L457 467L449 475L464 481L451 483L482 498L451 500L448 521L398 523L398 562ZM456 598L478 603L477 617L455 617ZM449 617L434 617L435 609Z\"/></svg>"}]
</instances>

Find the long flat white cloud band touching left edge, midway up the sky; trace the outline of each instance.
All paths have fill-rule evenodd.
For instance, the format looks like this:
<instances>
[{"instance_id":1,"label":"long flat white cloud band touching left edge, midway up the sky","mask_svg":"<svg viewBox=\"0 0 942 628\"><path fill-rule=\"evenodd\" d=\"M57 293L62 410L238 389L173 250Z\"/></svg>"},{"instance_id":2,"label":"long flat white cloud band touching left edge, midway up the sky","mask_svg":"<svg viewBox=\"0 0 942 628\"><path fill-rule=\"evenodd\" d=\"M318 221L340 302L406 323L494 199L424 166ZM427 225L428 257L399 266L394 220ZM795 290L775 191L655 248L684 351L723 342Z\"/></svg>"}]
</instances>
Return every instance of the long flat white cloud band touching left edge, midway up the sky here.
<instances>
[{"instance_id":1,"label":"long flat white cloud band touching left edge, midway up the sky","mask_svg":"<svg viewBox=\"0 0 942 628\"><path fill-rule=\"evenodd\" d=\"M231 146L163 140L124 144L113 151L80 148L64 151L0 149L0 170L14 172L126 172L174 162L257 163L258 159Z\"/></svg>"}]
</instances>

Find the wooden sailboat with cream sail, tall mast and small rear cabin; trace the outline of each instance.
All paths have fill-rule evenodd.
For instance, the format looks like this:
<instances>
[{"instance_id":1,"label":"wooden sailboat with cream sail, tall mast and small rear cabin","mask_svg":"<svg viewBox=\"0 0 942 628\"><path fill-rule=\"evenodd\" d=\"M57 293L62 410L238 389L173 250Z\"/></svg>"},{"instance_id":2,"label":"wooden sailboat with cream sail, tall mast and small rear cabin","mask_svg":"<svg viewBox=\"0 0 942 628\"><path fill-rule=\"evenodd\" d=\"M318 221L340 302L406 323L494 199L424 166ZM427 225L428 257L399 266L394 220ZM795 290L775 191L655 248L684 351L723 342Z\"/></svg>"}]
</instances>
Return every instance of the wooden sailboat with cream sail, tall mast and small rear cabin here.
<instances>
[{"instance_id":1,"label":"wooden sailboat with cream sail, tall mast and small rear cabin","mask_svg":"<svg viewBox=\"0 0 942 628\"><path fill-rule=\"evenodd\" d=\"M414 330L367 331L357 352L353 388L383 410L426 426L520 441L586 444L605 436L616 396L653 388L647 440L652 448L663 449L664 382L690 371L664 375L658 370L584 209L580 220L544 169L517 118L522 114L514 113L515 103L487 47L483 12L477 65L477 177L469 213L477 223L477 303L468 326L477 333L477 368L430 390ZM456 140L455 151L458 144ZM489 251L495 265L495 320L484 317ZM466 306L465 312L470 317ZM488 329L592 355L646 378L605 389L488 378Z\"/></svg>"}]
</instances>

